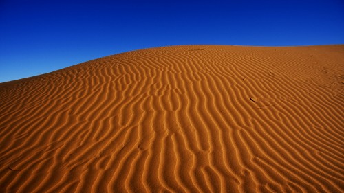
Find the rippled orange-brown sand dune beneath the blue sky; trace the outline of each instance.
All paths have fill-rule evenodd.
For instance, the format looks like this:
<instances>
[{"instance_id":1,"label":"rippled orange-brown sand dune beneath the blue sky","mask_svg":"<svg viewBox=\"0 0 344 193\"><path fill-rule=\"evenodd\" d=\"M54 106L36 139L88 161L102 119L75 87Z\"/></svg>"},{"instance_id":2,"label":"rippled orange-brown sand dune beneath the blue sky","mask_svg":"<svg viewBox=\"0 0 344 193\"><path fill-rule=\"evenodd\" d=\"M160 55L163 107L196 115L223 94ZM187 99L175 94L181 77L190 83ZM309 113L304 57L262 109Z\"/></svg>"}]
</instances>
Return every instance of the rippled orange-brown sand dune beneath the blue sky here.
<instances>
[{"instance_id":1,"label":"rippled orange-brown sand dune beneath the blue sky","mask_svg":"<svg viewBox=\"0 0 344 193\"><path fill-rule=\"evenodd\" d=\"M0 84L0 192L344 192L344 45L172 46Z\"/></svg>"}]
</instances>

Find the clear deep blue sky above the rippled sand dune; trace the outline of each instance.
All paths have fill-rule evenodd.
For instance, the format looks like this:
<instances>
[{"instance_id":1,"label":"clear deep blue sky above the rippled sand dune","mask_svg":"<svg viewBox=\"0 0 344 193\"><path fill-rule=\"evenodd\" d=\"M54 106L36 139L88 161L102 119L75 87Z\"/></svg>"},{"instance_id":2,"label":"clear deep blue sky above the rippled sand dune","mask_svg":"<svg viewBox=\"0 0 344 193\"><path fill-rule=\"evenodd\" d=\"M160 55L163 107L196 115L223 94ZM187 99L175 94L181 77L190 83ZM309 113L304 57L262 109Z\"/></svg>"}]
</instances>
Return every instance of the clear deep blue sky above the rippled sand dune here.
<instances>
[{"instance_id":1,"label":"clear deep blue sky above the rippled sand dune","mask_svg":"<svg viewBox=\"0 0 344 193\"><path fill-rule=\"evenodd\" d=\"M0 0L0 82L166 45L329 44L343 0Z\"/></svg>"}]
</instances>

